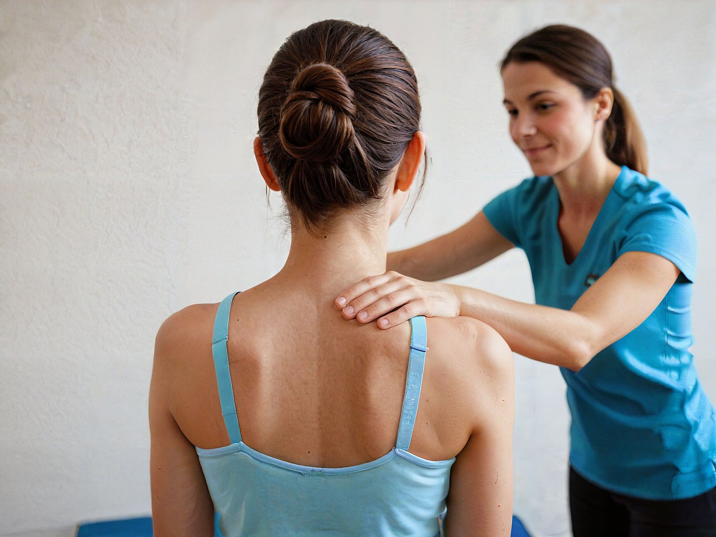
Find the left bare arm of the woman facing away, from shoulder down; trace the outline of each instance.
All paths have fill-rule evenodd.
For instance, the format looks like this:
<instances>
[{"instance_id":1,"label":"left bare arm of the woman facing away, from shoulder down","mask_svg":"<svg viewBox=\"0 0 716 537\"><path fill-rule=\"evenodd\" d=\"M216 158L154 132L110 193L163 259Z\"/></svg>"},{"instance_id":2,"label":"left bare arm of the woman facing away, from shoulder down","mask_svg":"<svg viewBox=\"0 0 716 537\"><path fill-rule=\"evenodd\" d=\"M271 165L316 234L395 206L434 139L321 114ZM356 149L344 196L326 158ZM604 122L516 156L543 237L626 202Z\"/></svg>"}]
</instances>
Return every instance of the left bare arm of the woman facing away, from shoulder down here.
<instances>
[{"instance_id":1,"label":"left bare arm of the woman facing away, from shoulder down","mask_svg":"<svg viewBox=\"0 0 716 537\"><path fill-rule=\"evenodd\" d=\"M213 536L213 504L194 445L170 410L178 374L177 335L183 319L175 314L157 334L149 395L150 478L154 534Z\"/></svg>"}]
</instances>

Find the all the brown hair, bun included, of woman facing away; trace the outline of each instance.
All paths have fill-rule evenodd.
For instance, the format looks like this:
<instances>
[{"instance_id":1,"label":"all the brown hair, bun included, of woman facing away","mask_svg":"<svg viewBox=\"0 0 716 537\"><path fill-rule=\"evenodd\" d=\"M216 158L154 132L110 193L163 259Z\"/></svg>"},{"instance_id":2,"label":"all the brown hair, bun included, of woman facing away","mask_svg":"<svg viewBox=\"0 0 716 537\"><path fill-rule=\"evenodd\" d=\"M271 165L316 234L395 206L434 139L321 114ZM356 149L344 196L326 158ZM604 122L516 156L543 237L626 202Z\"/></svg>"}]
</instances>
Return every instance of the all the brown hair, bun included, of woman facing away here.
<instances>
[{"instance_id":1,"label":"all the brown hair, bun included, of woman facing away","mask_svg":"<svg viewBox=\"0 0 716 537\"><path fill-rule=\"evenodd\" d=\"M289 213L319 228L381 197L420 128L415 72L387 37L320 21L289 37L258 93L258 136Z\"/></svg>"}]
</instances>

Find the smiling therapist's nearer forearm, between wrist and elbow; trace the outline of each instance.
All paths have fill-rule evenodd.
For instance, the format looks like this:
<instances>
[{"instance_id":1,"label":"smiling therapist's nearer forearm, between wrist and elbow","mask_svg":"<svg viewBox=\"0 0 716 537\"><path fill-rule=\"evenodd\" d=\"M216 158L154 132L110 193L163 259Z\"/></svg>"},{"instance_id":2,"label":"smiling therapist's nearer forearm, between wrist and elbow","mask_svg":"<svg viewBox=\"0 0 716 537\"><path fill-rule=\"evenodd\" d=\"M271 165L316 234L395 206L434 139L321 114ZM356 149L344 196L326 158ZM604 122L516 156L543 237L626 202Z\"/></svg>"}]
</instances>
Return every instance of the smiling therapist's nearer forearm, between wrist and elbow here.
<instances>
[{"instance_id":1,"label":"smiling therapist's nearer forearm, between wrist and elbow","mask_svg":"<svg viewBox=\"0 0 716 537\"><path fill-rule=\"evenodd\" d=\"M460 315L492 326L514 352L525 357L579 371L599 352L596 327L581 314L525 304L473 289L453 286Z\"/></svg>"}]
</instances>

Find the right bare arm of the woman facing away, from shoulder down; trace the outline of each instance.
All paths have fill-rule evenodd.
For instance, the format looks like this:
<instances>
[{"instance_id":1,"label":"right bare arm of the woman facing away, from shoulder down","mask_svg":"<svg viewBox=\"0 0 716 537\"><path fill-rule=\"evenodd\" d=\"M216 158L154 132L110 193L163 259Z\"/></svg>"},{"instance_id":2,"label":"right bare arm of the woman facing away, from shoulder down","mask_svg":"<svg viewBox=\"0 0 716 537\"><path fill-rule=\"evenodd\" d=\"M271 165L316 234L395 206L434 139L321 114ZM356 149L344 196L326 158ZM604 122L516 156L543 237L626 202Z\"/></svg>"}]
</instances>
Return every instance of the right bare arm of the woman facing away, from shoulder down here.
<instances>
[{"instance_id":1,"label":"right bare arm of the woman facing away, from shoulder down","mask_svg":"<svg viewBox=\"0 0 716 537\"><path fill-rule=\"evenodd\" d=\"M473 425L450 473L445 529L448 536L508 537L513 502L513 356L497 332L479 321L473 325L474 367L463 372L470 384Z\"/></svg>"}]
</instances>

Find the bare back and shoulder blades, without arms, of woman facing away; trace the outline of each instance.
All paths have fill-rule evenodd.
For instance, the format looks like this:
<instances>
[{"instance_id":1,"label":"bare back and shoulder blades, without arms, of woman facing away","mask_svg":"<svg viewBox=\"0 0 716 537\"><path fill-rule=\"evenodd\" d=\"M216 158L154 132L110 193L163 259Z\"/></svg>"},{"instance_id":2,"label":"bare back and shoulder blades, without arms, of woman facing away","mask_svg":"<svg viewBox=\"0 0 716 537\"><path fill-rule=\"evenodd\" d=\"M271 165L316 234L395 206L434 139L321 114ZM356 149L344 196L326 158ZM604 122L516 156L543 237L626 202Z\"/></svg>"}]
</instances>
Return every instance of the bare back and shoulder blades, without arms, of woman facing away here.
<instances>
[{"instance_id":1,"label":"bare back and shoulder blades, without arms, of woman facing away","mask_svg":"<svg viewBox=\"0 0 716 537\"><path fill-rule=\"evenodd\" d=\"M243 441L281 460L325 468L385 455L395 446L405 395L410 325L384 331L346 322L329 298L276 287L269 281L238 294L231 308L228 355ZM175 347L170 408L200 448L230 443L211 359L216 308L181 312L193 328L177 334L183 341ZM422 458L458 455L480 422L480 399L492 396L478 378L475 322L427 320L430 352L410 446Z\"/></svg>"}]
</instances>

